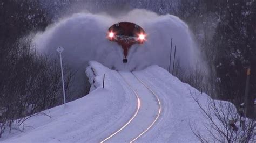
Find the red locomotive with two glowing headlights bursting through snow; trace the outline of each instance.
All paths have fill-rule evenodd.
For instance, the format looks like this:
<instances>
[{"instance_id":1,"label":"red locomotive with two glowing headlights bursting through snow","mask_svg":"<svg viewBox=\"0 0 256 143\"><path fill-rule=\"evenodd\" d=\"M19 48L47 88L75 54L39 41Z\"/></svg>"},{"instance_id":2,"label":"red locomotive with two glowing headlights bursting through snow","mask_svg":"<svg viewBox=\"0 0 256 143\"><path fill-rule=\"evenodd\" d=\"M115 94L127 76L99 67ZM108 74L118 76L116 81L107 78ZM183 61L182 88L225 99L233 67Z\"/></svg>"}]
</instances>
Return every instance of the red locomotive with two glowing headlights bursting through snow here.
<instances>
[{"instance_id":1,"label":"red locomotive with two glowing headlights bursting through snow","mask_svg":"<svg viewBox=\"0 0 256 143\"><path fill-rule=\"evenodd\" d=\"M107 35L110 41L115 41L122 46L124 50L124 63L128 61L127 54L130 47L136 43L143 44L146 40L145 37L146 34L143 28L130 22L119 22L112 25Z\"/></svg>"}]
</instances>

